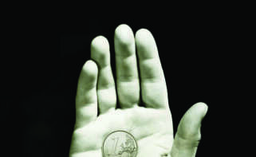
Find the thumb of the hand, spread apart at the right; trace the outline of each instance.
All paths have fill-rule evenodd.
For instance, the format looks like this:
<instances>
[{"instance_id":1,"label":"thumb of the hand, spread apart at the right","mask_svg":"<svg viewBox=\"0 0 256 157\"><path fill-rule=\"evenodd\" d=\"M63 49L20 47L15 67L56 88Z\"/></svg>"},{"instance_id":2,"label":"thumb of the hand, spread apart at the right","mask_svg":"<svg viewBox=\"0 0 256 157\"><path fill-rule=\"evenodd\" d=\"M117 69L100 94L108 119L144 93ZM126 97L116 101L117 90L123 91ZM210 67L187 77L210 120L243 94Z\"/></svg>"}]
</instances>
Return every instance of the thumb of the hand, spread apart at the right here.
<instances>
[{"instance_id":1,"label":"thumb of the hand, spread apart at the right","mask_svg":"<svg viewBox=\"0 0 256 157\"><path fill-rule=\"evenodd\" d=\"M201 139L200 127L203 117L207 113L207 105L198 103L193 105L183 116L179 123L171 149L173 157L194 157L199 140Z\"/></svg>"}]
</instances>

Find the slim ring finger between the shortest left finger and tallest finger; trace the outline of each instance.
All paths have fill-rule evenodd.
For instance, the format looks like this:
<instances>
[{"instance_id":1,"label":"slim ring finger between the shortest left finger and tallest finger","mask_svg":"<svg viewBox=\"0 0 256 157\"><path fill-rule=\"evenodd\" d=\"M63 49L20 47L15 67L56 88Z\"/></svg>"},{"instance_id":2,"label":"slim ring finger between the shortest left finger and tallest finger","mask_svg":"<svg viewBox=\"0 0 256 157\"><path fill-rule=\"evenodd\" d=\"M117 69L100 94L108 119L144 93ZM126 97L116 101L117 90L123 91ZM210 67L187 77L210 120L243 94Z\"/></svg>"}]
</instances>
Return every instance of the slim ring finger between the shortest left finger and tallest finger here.
<instances>
[{"instance_id":1,"label":"slim ring finger between the shortest left finger and tallest finger","mask_svg":"<svg viewBox=\"0 0 256 157\"><path fill-rule=\"evenodd\" d=\"M97 98L100 114L116 108L116 88L110 65L108 40L99 36L91 44L91 56L99 68Z\"/></svg>"}]
</instances>

